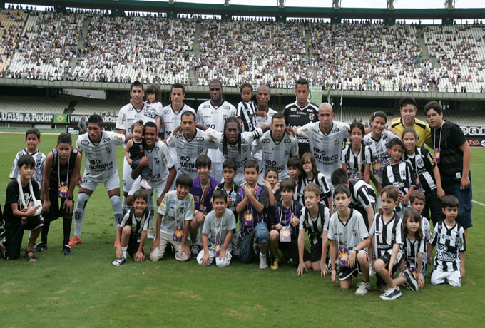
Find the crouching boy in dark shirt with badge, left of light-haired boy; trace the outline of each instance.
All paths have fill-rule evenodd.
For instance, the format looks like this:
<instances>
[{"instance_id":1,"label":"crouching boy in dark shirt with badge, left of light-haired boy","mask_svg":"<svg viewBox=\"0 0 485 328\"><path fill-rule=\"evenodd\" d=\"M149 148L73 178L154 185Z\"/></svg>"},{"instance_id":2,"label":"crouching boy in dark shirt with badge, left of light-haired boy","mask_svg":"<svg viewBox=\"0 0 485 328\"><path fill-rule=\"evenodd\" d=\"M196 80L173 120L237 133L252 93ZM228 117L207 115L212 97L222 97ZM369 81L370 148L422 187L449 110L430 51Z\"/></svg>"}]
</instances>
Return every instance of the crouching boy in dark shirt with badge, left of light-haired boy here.
<instances>
[{"instance_id":1,"label":"crouching boy in dark shirt with badge, left of light-haired boy","mask_svg":"<svg viewBox=\"0 0 485 328\"><path fill-rule=\"evenodd\" d=\"M295 181L291 178L281 180L280 192L282 200L268 213L270 225L271 269L277 270L280 263L278 248L282 252L289 252L293 264L298 265L298 226L302 205L293 200L295 195Z\"/></svg>"}]
</instances>

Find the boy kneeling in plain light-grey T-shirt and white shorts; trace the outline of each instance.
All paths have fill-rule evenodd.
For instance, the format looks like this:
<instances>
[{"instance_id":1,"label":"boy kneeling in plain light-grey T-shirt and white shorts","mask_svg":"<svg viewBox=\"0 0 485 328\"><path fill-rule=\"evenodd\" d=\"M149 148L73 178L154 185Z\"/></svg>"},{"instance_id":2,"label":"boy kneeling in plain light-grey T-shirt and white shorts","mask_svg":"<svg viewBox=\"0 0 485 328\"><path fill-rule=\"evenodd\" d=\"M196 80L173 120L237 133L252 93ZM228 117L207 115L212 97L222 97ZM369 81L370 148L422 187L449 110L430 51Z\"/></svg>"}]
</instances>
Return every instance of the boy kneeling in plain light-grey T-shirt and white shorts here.
<instances>
[{"instance_id":1,"label":"boy kneeling in plain light-grey T-shirt and white shorts","mask_svg":"<svg viewBox=\"0 0 485 328\"><path fill-rule=\"evenodd\" d=\"M224 190L215 190L212 198L213 210L205 217L202 228L203 250L197 255L197 262L203 267L215 265L227 267L230 265L231 240L236 228L233 211L228 207L228 194Z\"/></svg>"}]
</instances>

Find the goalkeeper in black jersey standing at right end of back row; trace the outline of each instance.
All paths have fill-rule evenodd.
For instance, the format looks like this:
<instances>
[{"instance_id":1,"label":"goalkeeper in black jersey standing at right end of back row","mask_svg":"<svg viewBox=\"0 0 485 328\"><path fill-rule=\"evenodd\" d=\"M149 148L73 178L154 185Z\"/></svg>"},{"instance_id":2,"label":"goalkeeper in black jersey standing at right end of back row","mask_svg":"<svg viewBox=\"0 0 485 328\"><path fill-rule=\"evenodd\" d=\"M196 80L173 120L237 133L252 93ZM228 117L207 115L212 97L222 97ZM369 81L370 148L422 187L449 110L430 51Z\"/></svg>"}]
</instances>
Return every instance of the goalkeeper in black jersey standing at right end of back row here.
<instances>
[{"instance_id":1,"label":"goalkeeper in black jersey standing at right end of back row","mask_svg":"<svg viewBox=\"0 0 485 328\"><path fill-rule=\"evenodd\" d=\"M286 125L290 128L296 129L307 123L318 121L318 106L308 101L309 94L310 87L308 86L308 81L304 79L298 80L295 87L297 101L288 104L284 112ZM310 151L310 144L307 138L298 138L298 149L300 158L304 153Z\"/></svg>"}]
</instances>

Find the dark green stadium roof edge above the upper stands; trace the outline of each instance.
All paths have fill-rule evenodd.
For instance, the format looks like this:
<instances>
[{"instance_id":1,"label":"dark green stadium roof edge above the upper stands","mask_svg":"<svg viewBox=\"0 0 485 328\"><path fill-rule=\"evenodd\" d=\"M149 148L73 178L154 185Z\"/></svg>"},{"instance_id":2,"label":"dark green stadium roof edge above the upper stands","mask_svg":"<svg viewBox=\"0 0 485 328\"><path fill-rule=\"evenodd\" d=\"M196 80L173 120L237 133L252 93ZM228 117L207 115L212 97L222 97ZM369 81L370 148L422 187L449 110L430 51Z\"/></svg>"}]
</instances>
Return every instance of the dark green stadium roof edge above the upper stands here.
<instances>
[{"instance_id":1,"label":"dark green stadium roof edge above the upper stands","mask_svg":"<svg viewBox=\"0 0 485 328\"><path fill-rule=\"evenodd\" d=\"M25 5L64 6L90 9L111 9L128 11L173 12L180 14L220 14L245 16L322 17L348 19L485 19L485 8L448 9L394 9L387 8L340 8L331 7L285 7L244 6L223 4L169 4L168 1L136 0L26 0ZM221 1L222 2L222 1Z\"/></svg>"}]
</instances>

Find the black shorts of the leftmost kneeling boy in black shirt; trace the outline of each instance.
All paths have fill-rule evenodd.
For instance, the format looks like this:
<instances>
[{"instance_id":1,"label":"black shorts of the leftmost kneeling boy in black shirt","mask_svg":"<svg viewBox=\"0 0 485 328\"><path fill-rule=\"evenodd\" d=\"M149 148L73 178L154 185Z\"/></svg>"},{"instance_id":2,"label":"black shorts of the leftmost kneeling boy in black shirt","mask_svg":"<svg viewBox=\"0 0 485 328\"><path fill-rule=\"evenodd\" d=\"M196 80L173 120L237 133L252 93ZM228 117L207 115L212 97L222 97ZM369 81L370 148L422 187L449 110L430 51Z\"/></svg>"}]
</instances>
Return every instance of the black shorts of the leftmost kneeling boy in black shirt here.
<instances>
[{"instance_id":1,"label":"black shorts of the leftmost kneeling boy in black shirt","mask_svg":"<svg viewBox=\"0 0 485 328\"><path fill-rule=\"evenodd\" d=\"M44 225L40 215L27 217L25 225L21 220L5 221L5 258L15 260L20 257L20 247L24 238L24 230L37 230Z\"/></svg>"}]
</instances>

